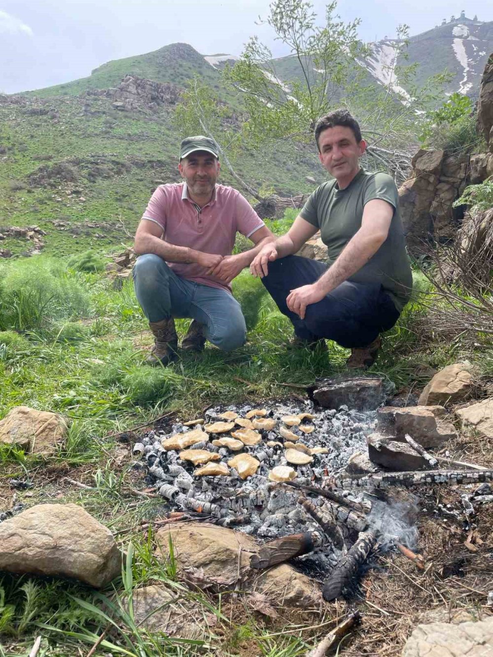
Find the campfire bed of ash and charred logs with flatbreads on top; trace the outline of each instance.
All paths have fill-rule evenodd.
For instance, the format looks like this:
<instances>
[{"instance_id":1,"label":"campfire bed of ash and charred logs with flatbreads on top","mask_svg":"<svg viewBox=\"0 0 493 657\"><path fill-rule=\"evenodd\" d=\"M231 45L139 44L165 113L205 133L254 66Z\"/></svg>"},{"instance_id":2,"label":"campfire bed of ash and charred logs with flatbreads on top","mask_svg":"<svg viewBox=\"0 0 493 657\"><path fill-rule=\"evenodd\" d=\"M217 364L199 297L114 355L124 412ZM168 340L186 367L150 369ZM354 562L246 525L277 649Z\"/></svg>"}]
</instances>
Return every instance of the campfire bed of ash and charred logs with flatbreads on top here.
<instances>
[{"instance_id":1,"label":"campfire bed of ash and charred logs with flatbreads on top","mask_svg":"<svg viewBox=\"0 0 493 657\"><path fill-rule=\"evenodd\" d=\"M312 401L214 407L203 419L145 434L133 453L171 511L257 537L265 544L253 568L298 556L312 576L331 573L323 589L330 600L377 539L385 549L412 548L417 537L411 496L386 503L362 487L327 486L347 478L350 457L367 450L375 424L375 411L321 409ZM341 564L344 576L333 587Z\"/></svg>"}]
</instances>

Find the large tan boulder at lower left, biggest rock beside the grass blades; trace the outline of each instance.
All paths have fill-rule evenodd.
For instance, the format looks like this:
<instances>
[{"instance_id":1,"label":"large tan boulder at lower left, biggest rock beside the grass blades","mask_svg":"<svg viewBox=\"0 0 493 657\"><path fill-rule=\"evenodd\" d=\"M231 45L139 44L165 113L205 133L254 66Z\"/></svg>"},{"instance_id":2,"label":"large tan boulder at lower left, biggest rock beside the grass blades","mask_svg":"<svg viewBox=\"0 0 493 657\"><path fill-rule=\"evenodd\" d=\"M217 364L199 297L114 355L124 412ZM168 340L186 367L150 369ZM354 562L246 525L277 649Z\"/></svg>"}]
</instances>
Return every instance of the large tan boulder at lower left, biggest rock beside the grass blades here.
<instances>
[{"instance_id":1,"label":"large tan boulder at lower left, biggest rock beside the grass blades","mask_svg":"<svg viewBox=\"0 0 493 657\"><path fill-rule=\"evenodd\" d=\"M110 530L75 504L40 504L0 524L0 570L101 588L122 570Z\"/></svg>"}]
</instances>

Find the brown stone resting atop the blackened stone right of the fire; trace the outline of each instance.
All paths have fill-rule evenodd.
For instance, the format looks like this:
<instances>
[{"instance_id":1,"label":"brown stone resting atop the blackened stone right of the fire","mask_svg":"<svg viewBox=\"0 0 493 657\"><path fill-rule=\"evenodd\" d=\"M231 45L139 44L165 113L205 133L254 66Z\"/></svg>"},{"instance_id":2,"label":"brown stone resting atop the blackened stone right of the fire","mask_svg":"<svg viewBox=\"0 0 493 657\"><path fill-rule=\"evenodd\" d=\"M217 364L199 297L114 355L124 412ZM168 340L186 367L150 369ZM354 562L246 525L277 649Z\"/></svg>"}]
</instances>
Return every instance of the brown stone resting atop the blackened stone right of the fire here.
<instances>
[{"instance_id":1,"label":"brown stone resting atop the blackened stone right of the fire","mask_svg":"<svg viewBox=\"0 0 493 657\"><path fill-rule=\"evenodd\" d=\"M442 406L384 406L377 410L377 431L394 440L404 441L409 434L428 449L457 437L454 426L444 419Z\"/></svg>"}]
</instances>

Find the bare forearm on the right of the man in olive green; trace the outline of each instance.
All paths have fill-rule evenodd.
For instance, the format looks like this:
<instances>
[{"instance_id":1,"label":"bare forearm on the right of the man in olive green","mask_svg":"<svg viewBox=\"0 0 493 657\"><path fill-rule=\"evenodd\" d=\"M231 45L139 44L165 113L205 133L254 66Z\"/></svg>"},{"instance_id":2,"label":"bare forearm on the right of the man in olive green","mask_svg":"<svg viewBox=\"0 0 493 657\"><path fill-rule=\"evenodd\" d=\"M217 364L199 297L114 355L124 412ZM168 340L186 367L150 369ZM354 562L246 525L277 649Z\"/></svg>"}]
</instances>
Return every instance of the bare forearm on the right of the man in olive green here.
<instances>
[{"instance_id":1,"label":"bare forearm on the right of the man in olive green","mask_svg":"<svg viewBox=\"0 0 493 657\"><path fill-rule=\"evenodd\" d=\"M315 286L324 294L329 294L359 271L375 255L384 241L385 238L378 235L366 235L358 231L346 244L335 263L321 275Z\"/></svg>"}]
</instances>

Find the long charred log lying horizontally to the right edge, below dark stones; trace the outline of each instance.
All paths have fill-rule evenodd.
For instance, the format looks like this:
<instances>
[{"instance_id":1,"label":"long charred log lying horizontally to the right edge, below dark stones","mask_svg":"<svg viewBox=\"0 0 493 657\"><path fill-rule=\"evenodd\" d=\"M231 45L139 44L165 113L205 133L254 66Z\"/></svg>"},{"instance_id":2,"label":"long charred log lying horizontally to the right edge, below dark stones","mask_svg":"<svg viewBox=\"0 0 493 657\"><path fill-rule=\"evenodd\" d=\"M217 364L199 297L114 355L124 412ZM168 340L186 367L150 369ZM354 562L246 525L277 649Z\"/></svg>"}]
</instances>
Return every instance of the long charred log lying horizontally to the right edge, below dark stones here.
<instances>
[{"instance_id":1,"label":"long charred log lying horizontally to the right edge, below dark stones","mask_svg":"<svg viewBox=\"0 0 493 657\"><path fill-rule=\"evenodd\" d=\"M375 472L331 479L331 484L342 489L390 488L392 486L429 486L431 484L483 484L493 481L493 470L426 470L425 472Z\"/></svg>"}]
</instances>

